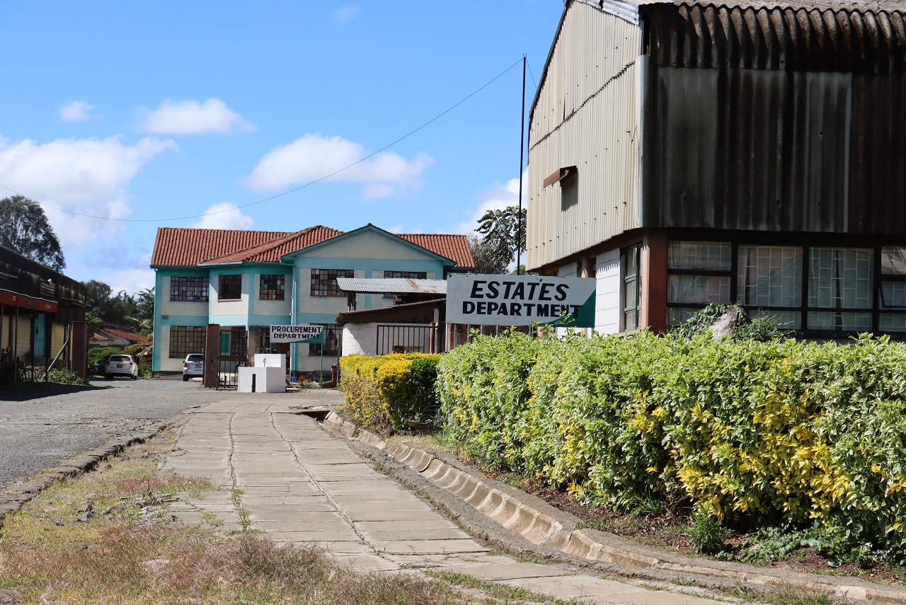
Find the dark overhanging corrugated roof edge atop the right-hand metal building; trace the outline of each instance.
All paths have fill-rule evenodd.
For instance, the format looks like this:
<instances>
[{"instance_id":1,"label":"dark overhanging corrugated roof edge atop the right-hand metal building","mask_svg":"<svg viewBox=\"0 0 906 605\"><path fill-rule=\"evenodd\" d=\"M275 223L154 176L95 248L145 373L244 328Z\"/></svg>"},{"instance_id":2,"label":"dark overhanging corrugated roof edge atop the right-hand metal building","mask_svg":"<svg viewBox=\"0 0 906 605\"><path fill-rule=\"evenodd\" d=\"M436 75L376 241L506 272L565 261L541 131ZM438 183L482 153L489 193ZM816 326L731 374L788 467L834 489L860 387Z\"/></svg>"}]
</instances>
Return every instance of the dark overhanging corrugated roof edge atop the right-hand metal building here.
<instances>
[{"instance_id":1,"label":"dark overhanging corrugated roof edge atop the right-hand metal building","mask_svg":"<svg viewBox=\"0 0 906 605\"><path fill-rule=\"evenodd\" d=\"M906 2L652 3L639 11L661 66L906 72Z\"/></svg>"}]
</instances>

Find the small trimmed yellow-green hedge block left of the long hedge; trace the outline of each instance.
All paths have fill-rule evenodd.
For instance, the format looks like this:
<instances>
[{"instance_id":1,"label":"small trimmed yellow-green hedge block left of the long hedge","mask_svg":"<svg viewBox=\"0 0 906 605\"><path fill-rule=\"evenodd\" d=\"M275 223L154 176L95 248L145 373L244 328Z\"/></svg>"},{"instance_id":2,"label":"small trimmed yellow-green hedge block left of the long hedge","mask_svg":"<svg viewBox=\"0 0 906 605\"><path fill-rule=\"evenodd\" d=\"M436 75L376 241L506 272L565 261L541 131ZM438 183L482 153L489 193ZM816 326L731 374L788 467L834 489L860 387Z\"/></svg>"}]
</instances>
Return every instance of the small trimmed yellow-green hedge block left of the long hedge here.
<instances>
[{"instance_id":1,"label":"small trimmed yellow-green hedge block left of the long hedge","mask_svg":"<svg viewBox=\"0 0 906 605\"><path fill-rule=\"evenodd\" d=\"M427 353L340 358L343 415L381 433L405 428L404 420L433 416L439 407L434 390L439 358Z\"/></svg>"}]
</instances>

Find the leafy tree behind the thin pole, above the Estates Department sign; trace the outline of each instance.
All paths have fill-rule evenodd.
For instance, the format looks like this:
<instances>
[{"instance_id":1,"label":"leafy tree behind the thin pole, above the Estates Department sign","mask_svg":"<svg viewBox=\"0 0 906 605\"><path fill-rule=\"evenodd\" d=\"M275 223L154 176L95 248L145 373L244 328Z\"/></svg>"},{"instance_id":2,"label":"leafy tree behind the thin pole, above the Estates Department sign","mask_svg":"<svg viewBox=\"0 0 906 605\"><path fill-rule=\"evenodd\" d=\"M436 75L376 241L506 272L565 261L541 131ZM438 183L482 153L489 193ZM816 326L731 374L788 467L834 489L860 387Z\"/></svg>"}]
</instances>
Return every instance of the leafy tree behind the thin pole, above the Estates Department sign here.
<instances>
[{"instance_id":1,"label":"leafy tree behind the thin pole, above the Estates Department sign","mask_svg":"<svg viewBox=\"0 0 906 605\"><path fill-rule=\"evenodd\" d=\"M484 237L480 240L475 238L475 245L472 245L470 239L469 248L472 249L476 268L480 258L484 269L493 269L481 270L479 273L505 274L507 267L516 260L516 250L525 251L526 216L525 208L520 215L517 206L506 206L502 210L488 210L478 219L476 231Z\"/></svg>"}]
</instances>

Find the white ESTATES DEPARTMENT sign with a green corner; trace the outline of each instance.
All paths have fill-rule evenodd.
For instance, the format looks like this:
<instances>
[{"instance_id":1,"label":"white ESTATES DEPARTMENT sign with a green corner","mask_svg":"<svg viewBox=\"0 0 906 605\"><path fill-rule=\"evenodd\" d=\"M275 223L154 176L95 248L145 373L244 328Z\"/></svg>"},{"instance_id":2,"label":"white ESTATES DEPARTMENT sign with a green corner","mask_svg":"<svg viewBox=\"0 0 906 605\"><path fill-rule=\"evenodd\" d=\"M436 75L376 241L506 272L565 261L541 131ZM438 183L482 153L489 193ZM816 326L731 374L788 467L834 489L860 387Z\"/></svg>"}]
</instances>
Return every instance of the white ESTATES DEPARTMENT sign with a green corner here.
<instances>
[{"instance_id":1,"label":"white ESTATES DEPARTMENT sign with a green corner","mask_svg":"<svg viewBox=\"0 0 906 605\"><path fill-rule=\"evenodd\" d=\"M447 322L594 327L594 278L455 274L447 280Z\"/></svg>"}]
</instances>

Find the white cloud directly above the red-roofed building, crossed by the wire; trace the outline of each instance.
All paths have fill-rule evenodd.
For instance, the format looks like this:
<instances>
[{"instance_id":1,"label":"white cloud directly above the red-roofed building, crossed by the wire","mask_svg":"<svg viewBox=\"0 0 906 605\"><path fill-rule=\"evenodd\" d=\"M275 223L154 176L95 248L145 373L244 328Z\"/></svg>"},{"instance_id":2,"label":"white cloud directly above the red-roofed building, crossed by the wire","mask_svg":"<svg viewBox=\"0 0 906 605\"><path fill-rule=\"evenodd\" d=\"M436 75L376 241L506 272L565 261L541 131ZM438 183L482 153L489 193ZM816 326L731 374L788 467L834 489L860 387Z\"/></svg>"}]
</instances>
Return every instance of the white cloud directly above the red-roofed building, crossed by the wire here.
<instances>
[{"instance_id":1,"label":"white cloud directly above the red-roofed building, crossed by the wire","mask_svg":"<svg viewBox=\"0 0 906 605\"><path fill-rule=\"evenodd\" d=\"M426 153L406 159L393 151L381 151L362 159L367 155L361 143L306 134L268 152L246 178L246 184L258 190L279 190L319 179L356 182L364 184L362 197L372 199L419 187L421 173L434 163Z\"/></svg>"}]
</instances>

